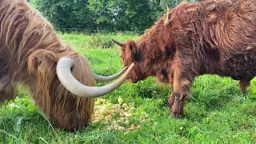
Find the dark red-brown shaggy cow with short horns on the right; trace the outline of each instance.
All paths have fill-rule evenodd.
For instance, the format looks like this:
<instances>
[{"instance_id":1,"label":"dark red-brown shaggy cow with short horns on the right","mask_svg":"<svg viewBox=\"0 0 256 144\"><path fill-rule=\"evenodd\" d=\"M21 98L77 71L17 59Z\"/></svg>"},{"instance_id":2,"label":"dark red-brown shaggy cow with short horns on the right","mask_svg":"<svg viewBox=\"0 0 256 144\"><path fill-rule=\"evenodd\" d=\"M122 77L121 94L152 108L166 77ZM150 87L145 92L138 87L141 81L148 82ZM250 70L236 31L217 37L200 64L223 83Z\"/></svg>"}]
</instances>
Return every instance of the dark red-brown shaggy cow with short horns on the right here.
<instances>
[{"instance_id":1,"label":"dark red-brown shaggy cow with short horns on the right","mask_svg":"<svg viewBox=\"0 0 256 144\"><path fill-rule=\"evenodd\" d=\"M130 81L156 76L170 82L168 105L181 118L194 78L218 74L240 81L242 91L256 75L256 0L181 3L138 42L118 42L125 66L135 63Z\"/></svg>"}]
</instances>

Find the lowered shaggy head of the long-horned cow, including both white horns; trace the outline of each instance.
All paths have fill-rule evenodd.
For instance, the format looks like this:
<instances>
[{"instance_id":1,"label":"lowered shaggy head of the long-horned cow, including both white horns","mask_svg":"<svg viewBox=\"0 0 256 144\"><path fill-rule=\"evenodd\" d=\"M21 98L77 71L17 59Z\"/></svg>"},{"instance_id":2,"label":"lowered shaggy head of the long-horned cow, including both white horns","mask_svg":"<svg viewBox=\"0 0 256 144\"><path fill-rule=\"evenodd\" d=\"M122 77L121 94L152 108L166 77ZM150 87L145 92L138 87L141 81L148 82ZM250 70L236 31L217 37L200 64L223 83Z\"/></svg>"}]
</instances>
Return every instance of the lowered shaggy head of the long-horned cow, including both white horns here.
<instances>
[{"instance_id":1,"label":"lowered shaggy head of the long-horned cow, including both white horns","mask_svg":"<svg viewBox=\"0 0 256 144\"><path fill-rule=\"evenodd\" d=\"M90 63L82 54L66 49L53 53L52 50L36 50L30 55L28 83L36 105L56 126L65 130L86 127L94 112L94 98L108 94L126 81L131 65L109 77L94 74ZM64 50L63 50L64 51ZM94 86L94 81L116 81L106 86Z\"/></svg>"}]
</instances>

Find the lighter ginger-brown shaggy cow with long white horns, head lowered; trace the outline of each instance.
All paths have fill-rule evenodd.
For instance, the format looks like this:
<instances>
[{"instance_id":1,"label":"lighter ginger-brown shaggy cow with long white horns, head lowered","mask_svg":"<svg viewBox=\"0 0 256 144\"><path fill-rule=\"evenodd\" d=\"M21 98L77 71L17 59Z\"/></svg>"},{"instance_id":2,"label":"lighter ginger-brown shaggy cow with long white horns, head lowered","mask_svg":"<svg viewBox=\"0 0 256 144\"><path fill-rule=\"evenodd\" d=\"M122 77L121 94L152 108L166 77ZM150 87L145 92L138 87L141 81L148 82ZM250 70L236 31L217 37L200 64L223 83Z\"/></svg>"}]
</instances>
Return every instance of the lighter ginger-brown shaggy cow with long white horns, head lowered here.
<instances>
[{"instance_id":1,"label":"lighter ginger-brown shaggy cow with long white horns, head lowered","mask_svg":"<svg viewBox=\"0 0 256 144\"><path fill-rule=\"evenodd\" d=\"M123 70L110 77L93 74L86 57L66 46L25 0L0 0L0 104L14 99L22 83L51 122L79 130L90 122L94 98L118 88L133 66L117 81L94 86L94 80L113 80Z\"/></svg>"}]
</instances>

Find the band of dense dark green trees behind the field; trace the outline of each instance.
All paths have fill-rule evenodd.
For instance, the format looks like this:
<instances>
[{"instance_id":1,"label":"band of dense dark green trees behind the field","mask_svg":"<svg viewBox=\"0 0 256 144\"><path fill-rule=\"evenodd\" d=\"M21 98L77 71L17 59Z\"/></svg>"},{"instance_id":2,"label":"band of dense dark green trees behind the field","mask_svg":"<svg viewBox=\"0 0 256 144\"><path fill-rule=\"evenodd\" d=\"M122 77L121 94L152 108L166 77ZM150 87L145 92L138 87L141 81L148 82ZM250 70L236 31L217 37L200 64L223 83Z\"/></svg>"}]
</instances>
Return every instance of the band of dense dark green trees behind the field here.
<instances>
[{"instance_id":1,"label":"band of dense dark green trees behind the field","mask_svg":"<svg viewBox=\"0 0 256 144\"><path fill-rule=\"evenodd\" d=\"M31 0L30 0L31 1ZM58 28L144 31L182 0L32 0ZM188 0L197 2L197 0Z\"/></svg>"}]
</instances>

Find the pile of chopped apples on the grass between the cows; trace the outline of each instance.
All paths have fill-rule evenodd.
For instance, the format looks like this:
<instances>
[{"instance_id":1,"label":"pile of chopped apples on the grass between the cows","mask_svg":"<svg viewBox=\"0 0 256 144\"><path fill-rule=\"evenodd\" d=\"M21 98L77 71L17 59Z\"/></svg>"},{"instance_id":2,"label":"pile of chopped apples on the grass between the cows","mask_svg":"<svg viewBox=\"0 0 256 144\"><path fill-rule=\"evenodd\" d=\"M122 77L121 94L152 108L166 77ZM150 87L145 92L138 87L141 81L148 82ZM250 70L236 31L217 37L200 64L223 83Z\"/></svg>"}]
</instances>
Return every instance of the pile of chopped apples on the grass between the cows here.
<instances>
[{"instance_id":1,"label":"pile of chopped apples on the grass between the cows","mask_svg":"<svg viewBox=\"0 0 256 144\"><path fill-rule=\"evenodd\" d=\"M149 114L138 110L132 103L124 103L122 98L118 98L118 104L98 98L92 122L106 124L110 130L136 130L141 127L142 122L149 119ZM134 121L137 121L137 125L133 124Z\"/></svg>"}]
</instances>

